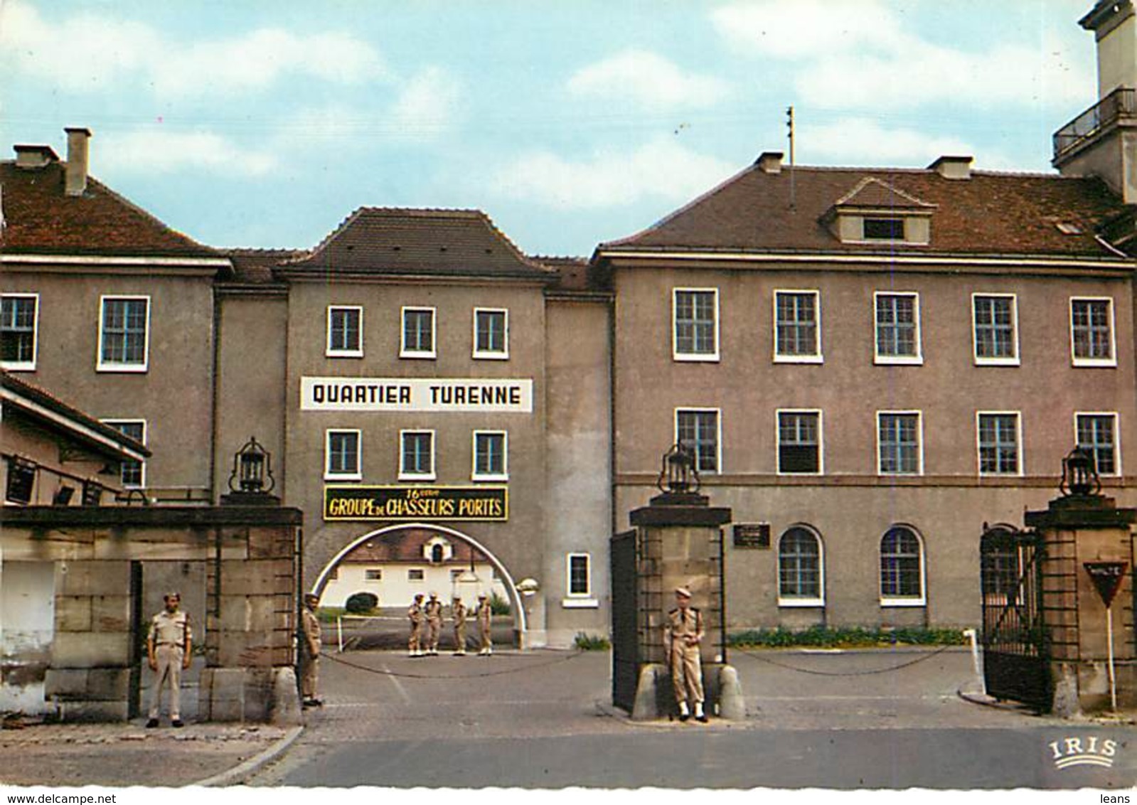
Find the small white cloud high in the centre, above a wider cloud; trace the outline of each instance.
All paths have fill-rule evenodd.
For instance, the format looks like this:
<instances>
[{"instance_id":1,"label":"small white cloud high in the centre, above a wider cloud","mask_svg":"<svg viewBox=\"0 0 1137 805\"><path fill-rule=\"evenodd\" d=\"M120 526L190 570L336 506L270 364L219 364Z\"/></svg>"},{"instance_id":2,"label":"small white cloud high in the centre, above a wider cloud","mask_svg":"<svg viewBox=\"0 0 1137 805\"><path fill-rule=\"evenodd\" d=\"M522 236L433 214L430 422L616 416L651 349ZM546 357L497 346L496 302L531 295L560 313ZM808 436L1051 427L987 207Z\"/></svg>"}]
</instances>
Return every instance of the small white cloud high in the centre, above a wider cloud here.
<instances>
[{"instance_id":1,"label":"small white cloud high in the centre, above a wider cloud","mask_svg":"<svg viewBox=\"0 0 1137 805\"><path fill-rule=\"evenodd\" d=\"M649 108L712 106L727 96L727 84L713 76L683 73L662 56L625 50L589 65L568 80L576 96L632 101Z\"/></svg>"}]
</instances>

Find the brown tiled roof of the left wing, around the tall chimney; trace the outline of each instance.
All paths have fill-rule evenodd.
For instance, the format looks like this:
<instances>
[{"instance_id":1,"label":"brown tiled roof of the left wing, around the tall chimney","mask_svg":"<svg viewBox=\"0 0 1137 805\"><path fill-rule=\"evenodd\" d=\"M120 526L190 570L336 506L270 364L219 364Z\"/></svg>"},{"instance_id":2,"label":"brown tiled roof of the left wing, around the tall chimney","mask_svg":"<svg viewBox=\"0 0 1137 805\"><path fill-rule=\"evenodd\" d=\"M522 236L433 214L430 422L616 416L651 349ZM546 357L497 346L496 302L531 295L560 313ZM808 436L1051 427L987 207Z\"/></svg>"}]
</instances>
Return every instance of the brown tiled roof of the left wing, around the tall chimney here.
<instances>
[{"instance_id":1,"label":"brown tiled roof of the left wing, around the tall chimney","mask_svg":"<svg viewBox=\"0 0 1137 805\"><path fill-rule=\"evenodd\" d=\"M88 177L82 196L67 196L64 165L53 161L30 169L0 161L6 224L0 249L9 254L219 257L93 177Z\"/></svg>"}]
</instances>

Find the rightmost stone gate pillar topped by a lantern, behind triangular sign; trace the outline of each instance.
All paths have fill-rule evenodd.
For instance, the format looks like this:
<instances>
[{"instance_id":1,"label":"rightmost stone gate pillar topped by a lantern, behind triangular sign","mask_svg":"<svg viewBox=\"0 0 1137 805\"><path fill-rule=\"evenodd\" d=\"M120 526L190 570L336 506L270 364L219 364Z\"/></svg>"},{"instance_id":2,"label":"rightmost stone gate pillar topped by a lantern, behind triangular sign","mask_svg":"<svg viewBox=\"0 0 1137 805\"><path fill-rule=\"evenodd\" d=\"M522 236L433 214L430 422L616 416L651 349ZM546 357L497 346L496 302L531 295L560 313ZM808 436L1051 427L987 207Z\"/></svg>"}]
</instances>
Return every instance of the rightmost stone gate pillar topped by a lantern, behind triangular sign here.
<instances>
[{"instance_id":1,"label":"rightmost stone gate pillar topped by a lantern, behind triangular sign","mask_svg":"<svg viewBox=\"0 0 1137 805\"><path fill-rule=\"evenodd\" d=\"M1051 638L1053 712L1077 715L1110 707L1106 607L1086 564L1123 563L1113 599L1113 656L1119 707L1137 706L1134 646L1132 534L1137 509L1099 493L1089 454L1063 460L1063 496L1045 512L1027 512L1043 536L1043 619Z\"/></svg>"}]
</instances>

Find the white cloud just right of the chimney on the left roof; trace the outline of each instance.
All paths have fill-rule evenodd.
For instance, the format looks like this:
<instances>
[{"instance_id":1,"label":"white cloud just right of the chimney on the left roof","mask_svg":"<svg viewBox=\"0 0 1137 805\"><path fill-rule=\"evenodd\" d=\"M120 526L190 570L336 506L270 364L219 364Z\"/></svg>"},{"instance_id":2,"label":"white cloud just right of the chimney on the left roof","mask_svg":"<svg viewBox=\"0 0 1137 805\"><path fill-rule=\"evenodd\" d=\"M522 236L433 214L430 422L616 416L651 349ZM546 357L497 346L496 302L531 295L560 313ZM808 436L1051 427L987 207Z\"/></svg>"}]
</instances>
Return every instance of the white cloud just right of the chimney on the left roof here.
<instances>
[{"instance_id":1,"label":"white cloud just right of the chimney on the left roof","mask_svg":"<svg viewBox=\"0 0 1137 805\"><path fill-rule=\"evenodd\" d=\"M209 131L141 128L125 134L108 133L99 148L99 171L107 175L164 174L206 171L259 176L276 167L265 151L243 149Z\"/></svg>"}]
</instances>

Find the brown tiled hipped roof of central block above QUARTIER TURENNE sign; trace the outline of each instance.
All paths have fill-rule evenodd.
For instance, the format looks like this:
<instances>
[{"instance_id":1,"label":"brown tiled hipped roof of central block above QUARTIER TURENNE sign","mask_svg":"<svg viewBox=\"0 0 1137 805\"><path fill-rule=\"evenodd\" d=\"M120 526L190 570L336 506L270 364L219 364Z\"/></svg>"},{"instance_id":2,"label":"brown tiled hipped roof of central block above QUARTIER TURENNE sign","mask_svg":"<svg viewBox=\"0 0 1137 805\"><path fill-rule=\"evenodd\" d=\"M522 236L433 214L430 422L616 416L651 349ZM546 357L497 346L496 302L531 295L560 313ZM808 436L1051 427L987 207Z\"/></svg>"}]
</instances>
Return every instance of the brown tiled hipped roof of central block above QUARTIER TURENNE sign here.
<instances>
[{"instance_id":1,"label":"brown tiled hipped roof of central block above QUARTIER TURENNE sign","mask_svg":"<svg viewBox=\"0 0 1137 805\"><path fill-rule=\"evenodd\" d=\"M481 210L360 207L284 268L324 274L491 276L554 281Z\"/></svg>"}]
</instances>

